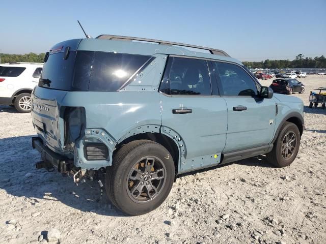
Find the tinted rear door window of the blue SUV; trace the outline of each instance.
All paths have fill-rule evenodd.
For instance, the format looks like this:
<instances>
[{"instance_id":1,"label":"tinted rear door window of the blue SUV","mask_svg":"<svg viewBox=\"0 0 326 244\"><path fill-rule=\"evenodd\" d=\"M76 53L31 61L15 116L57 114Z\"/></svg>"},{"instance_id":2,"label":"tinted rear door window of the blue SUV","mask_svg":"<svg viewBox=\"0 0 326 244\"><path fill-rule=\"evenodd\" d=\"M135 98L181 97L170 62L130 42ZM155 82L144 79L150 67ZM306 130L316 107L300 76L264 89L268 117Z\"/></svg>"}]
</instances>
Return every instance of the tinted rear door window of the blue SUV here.
<instances>
[{"instance_id":1,"label":"tinted rear door window of the blue SUV","mask_svg":"<svg viewBox=\"0 0 326 244\"><path fill-rule=\"evenodd\" d=\"M211 95L207 61L169 57L160 91L168 95Z\"/></svg>"}]
</instances>

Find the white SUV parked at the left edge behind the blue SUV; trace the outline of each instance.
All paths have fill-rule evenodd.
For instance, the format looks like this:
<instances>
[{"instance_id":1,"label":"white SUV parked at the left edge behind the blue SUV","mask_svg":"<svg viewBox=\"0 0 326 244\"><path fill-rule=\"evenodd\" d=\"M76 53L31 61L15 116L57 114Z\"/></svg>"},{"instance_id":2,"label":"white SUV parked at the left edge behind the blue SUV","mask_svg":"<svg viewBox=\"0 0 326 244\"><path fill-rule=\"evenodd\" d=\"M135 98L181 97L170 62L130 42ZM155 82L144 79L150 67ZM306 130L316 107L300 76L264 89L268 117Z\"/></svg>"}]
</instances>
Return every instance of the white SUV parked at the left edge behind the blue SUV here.
<instances>
[{"instance_id":1,"label":"white SUV parked at the left edge behind the blue SUV","mask_svg":"<svg viewBox=\"0 0 326 244\"><path fill-rule=\"evenodd\" d=\"M31 93L38 84L43 64L0 64L0 104L14 106L18 112L31 112Z\"/></svg>"}]
</instances>

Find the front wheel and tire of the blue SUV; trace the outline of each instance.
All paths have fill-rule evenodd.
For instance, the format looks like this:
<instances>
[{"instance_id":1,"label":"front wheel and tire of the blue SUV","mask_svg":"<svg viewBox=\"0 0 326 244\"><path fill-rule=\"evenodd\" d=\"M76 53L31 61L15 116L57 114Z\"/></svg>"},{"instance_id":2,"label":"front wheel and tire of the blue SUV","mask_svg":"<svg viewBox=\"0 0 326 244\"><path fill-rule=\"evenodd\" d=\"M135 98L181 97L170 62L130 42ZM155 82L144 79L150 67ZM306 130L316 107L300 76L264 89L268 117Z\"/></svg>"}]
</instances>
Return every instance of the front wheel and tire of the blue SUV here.
<instances>
[{"instance_id":1,"label":"front wheel and tire of the blue SUV","mask_svg":"<svg viewBox=\"0 0 326 244\"><path fill-rule=\"evenodd\" d=\"M296 125L286 121L280 129L273 149L266 155L267 161L280 168L290 165L299 150L300 139L300 132ZM285 144L285 141L288 144ZM289 143L290 141L292 142Z\"/></svg>"}]
</instances>

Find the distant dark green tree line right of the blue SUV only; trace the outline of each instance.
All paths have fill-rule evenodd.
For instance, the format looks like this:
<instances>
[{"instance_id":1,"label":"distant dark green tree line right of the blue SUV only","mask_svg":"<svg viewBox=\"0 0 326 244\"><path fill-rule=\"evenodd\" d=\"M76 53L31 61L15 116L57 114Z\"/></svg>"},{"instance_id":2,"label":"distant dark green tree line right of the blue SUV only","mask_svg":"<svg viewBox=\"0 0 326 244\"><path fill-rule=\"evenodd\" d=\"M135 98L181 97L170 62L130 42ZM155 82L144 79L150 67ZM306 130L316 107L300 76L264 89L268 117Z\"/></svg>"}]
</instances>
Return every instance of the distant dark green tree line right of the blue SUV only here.
<instances>
[{"instance_id":1,"label":"distant dark green tree line right of the blue SUV only","mask_svg":"<svg viewBox=\"0 0 326 244\"><path fill-rule=\"evenodd\" d=\"M263 68L263 69L282 69L282 68L326 68L326 58L320 57L305 57L302 53L298 54L294 60L269 60L266 59L260 62L242 62L247 67Z\"/></svg>"}]
</instances>

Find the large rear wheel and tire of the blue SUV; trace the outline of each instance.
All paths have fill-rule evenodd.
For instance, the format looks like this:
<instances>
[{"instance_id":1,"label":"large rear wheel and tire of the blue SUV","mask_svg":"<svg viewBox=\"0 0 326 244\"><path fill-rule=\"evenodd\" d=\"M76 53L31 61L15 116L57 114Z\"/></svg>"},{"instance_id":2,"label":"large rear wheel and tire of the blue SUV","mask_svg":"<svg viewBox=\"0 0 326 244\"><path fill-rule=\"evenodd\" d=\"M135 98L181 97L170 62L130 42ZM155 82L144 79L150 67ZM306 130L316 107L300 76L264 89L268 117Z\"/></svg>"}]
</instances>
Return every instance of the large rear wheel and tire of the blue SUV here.
<instances>
[{"instance_id":1,"label":"large rear wheel and tire of the blue SUV","mask_svg":"<svg viewBox=\"0 0 326 244\"><path fill-rule=\"evenodd\" d=\"M143 215L165 201L174 176L174 162L164 146L150 140L132 141L119 149L113 165L106 168L105 190L121 211L131 216Z\"/></svg>"}]
</instances>

